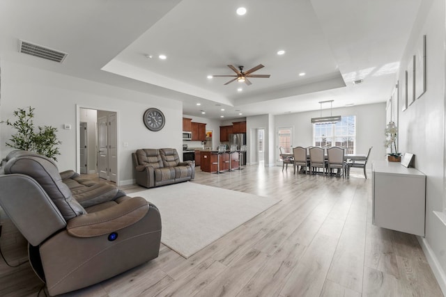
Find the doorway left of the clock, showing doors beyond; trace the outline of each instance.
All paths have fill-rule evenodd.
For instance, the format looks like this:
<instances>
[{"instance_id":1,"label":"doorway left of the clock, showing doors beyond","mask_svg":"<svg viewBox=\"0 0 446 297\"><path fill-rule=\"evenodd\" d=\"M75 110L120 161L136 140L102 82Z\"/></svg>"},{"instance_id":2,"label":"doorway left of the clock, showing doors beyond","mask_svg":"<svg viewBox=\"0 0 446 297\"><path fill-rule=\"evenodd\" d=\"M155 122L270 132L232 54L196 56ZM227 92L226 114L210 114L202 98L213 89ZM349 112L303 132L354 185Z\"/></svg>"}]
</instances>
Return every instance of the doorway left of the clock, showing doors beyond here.
<instances>
[{"instance_id":1,"label":"doorway left of the clock, showing doors beyond","mask_svg":"<svg viewBox=\"0 0 446 297\"><path fill-rule=\"evenodd\" d=\"M77 172L118 182L118 115L77 106Z\"/></svg>"}]
</instances>

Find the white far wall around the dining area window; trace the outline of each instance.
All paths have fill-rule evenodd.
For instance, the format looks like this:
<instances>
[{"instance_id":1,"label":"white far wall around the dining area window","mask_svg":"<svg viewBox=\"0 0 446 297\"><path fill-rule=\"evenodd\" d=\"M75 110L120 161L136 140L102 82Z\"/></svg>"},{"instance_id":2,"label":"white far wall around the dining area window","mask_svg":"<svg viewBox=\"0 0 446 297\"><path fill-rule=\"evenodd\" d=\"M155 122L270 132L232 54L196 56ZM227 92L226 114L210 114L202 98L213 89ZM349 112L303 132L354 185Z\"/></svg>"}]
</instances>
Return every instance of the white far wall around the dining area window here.
<instances>
[{"instance_id":1,"label":"white far wall around the dining area window","mask_svg":"<svg viewBox=\"0 0 446 297\"><path fill-rule=\"evenodd\" d=\"M323 111L323 115L325 113ZM332 114L356 115L356 153L367 154L369 147L374 147L371 150L367 168L370 168L371 161L385 158L385 102L333 109ZM275 127L294 127L293 147L309 147L314 145L311 120L319 116L321 116L321 111L276 115ZM275 155L278 156L279 149L275 147L275 150Z\"/></svg>"}]
</instances>

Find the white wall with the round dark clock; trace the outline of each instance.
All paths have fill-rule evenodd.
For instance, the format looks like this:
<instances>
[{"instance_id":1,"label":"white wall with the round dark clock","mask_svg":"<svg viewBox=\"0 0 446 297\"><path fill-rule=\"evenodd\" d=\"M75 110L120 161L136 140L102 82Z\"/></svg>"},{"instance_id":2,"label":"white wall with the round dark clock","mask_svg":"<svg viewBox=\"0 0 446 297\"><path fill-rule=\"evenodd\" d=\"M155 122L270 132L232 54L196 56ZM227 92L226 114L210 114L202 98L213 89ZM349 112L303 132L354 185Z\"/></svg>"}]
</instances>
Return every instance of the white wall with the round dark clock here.
<instances>
[{"instance_id":1,"label":"white wall with the round dark clock","mask_svg":"<svg viewBox=\"0 0 446 297\"><path fill-rule=\"evenodd\" d=\"M84 108L117 111L118 178L121 184L131 183L134 179L131 153L135 150L143 147L182 150L183 105L180 102L39 70L2 57L0 118L13 118L13 111L20 107L35 107L36 125L51 125L59 129L57 136L62 141L59 170L76 168L76 104ZM144 126L142 116L150 107L160 109L166 117L161 131L149 131ZM73 128L62 129L63 124L70 124ZM12 150L5 147L5 141L13 133L10 127L0 125L2 156ZM128 147L123 147L124 142Z\"/></svg>"}]
</instances>

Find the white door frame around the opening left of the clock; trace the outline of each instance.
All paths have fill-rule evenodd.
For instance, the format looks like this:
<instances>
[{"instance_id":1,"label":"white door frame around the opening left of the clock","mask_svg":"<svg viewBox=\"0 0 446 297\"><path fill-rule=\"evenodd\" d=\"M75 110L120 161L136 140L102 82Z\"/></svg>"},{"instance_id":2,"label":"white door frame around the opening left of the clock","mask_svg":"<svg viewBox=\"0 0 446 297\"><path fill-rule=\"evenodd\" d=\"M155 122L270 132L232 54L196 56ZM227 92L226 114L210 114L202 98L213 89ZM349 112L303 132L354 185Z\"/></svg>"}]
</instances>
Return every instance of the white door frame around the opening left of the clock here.
<instances>
[{"instance_id":1,"label":"white door frame around the opening left of the clock","mask_svg":"<svg viewBox=\"0 0 446 297\"><path fill-rule=\"evenodd\" d=\"M121 169L121 164L120 164L120 156L121 156L121 145L119 145L119 143L121 143L121 135L120 135L120 131L121 129L119 129L119 123L121 122L121 114L119 113L119 111L115 110L115 109L109 109L108 107L103 107L103 106L91 106L91 105L83 105L83 104L76 104L76 172L80 171L80 149L79 149L79 143L80 143L80 131L79 131L79 124L80 124L80 109L95 109L97 111L110 111L110 112L114 112L116 113L116 143L117 145L117 152L116 152L116 186L121 186L121 179L119 179L119 175L120 175L120 169Z\"/></svg>"}]
</instances>

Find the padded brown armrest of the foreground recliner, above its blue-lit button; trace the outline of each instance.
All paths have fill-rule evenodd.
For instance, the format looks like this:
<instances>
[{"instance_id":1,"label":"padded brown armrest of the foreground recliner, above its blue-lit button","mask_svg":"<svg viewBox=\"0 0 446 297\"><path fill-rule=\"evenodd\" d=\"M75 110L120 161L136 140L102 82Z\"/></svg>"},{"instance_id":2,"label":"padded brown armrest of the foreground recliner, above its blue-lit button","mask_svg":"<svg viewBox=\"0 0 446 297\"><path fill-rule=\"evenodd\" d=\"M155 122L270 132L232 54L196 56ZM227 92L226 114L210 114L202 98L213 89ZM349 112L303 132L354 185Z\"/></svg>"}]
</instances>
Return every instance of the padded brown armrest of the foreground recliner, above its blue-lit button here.
<instances>
[{"instance_id":1,"label":"padded brown armrest of the foreground recliner, above its blue-lit button","mask_svg":"<svg viewBox=\"0 0 446 297\"><path fill-rule=\"evenodd\" d=\"M94 237L112 233L137 223L146 216L148 202L141 197L124 200L114 207L77 216L68 221L68 234L76 237Z\"/></svg>"}]
</instances>

